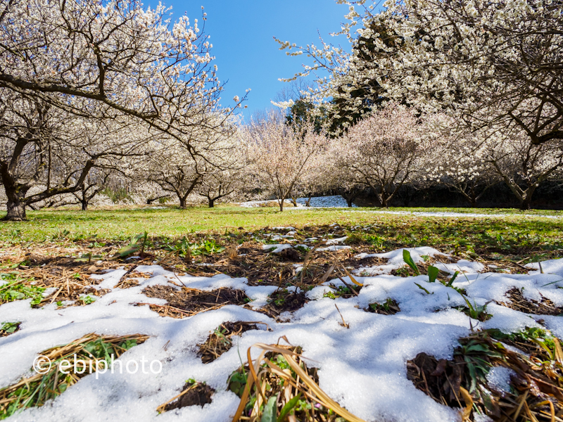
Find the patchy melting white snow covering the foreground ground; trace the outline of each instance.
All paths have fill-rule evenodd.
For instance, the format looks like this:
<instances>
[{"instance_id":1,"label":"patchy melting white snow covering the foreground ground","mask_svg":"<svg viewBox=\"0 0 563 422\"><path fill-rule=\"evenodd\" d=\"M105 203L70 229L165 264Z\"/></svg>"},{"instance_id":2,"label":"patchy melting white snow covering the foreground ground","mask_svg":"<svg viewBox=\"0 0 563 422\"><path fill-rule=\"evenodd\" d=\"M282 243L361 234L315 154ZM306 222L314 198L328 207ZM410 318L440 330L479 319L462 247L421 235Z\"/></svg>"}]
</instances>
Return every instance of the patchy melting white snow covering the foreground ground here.
<instances>
[{"instance_id":1,"label":"patchy melting white snow covering the foreground ground","mask_svg":"<svg viewBox=\"0 0 563 422\"><path fill-rule=\"evenodd\" d=\"M339 239L340 240L340 239ZM342 242L344 243L344 242ZM541 300L542 296L557 306L563 305L563 260L531 264L529 274L481 273L483 267L468 261L453 262L447 255L432 248L410 249L415 261L423 255L432 255L443 262L443 269L463 271L454 286L464 288L471 302L482 305L490 300L506 302L505 293L513 287L521 288L526 298ZM488 313L493 317L486 322L471 320L453 309L465 304L453 288L441 283L429 283L428 277L398 277L388 273L404 265L403 251L387 252L387 266L377 276L356 276L363 283L357 297L349 299L324 298L331 288L341 284L339 279L310 290L306 305L292 315L284 315L289 322L277 323L253 309L228 305L186 319L158 316L148 306L133 306L134 302L163 304L164 300L147 298L142 290L147 286L175 286L213 290L220 287L245 290L258 309L265 304L267 295L275 286L248 286L246 279L232 279L224 274L213 277L177 276L158 265L139 266L139 286L115 288L125 269L93 276L101 279L97 288L111 289L110 293L84 307L56 309L47 305L30 308L30 301L15 301L0 306L0 321L22 321L20 331L0 338L0 388L29 373L39 352L55 345L69 343L87 333L126 335L143 333L151 338L127 351L124 366L134 360L162 363L160 373L106 373L92 374L68 388L60 397L43 407L26 409L13 416L13 421L230 421L239 402L233 392L227 391L229 374L241 364L241 357L254 343L276 343L285 335L293 345L301 345L305 357L312 359L309 366L320 368L320 387L353 414L366 421L457 421L459 414L438 404L407 380L406 362L420 352L439 358L451 358L457 338L473 328L500 328L505 332L518 331L526 326L545 327L563 338L563 319L559 316L529 315L491 302ZM134 276L134 273L131 274ZM351 283L349 278L345 279ZM419 288L418 283L429 293ZM373 302L392 298L401 312L381 315L365 312ZM339 324L341 316L346 324ZM438 311L438 312L437 312ZM198 343L203 343L210 331L224 321L263 321L265 329L243 333L236 347L219 359L203 364L196 356ZM502 378L502 373L491 377ZM185 381L195 378L205 381L216 392L213 402L184 407L158 414L158 405L179 393Z\"/></svg>"}]
</instances>

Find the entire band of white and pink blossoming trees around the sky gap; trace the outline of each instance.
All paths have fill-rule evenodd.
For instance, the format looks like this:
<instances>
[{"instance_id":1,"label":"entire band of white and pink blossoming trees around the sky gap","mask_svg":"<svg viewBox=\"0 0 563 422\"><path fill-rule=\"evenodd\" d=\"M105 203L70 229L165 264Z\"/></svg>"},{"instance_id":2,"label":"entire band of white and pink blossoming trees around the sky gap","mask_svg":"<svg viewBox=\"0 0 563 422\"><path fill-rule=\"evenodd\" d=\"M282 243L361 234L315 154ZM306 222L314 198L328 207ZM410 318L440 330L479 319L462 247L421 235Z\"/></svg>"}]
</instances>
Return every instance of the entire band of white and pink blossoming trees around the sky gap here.
<instances>
[{"instance_id":1,"label":"entire band of white and pink blossoming trees around the sky gap","mask_svg":"<svg viewBox=\"0 0 563 422\"><path fill-rule=\"evenodd\" d=\"M201 23L135 0L0 6L0 179L6 219L126 187L279 200L442 184L475 205L504 182L521 203L563 179L560 1L349 4L351 53L324 43L281 110L243 122ZM198 26L198 24L200 26ZM301 78L302 80L302 78Z\"/></svg>"}]
</instances>

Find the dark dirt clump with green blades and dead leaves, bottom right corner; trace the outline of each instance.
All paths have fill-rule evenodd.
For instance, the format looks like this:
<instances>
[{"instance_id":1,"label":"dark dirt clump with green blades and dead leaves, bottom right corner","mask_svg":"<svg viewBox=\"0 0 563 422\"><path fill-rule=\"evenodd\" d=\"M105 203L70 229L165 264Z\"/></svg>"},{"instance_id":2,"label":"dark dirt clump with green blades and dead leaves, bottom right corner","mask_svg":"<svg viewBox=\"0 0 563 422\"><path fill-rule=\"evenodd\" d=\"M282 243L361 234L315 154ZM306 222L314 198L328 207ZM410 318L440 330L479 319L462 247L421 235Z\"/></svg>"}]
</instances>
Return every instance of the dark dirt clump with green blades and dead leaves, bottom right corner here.
<instances>
[{"instance_id":1,"label":"dark dirt clump with green blades and dead leaves, bottom right corner","mask_svg":"<svg viewBox=\"0 0 563 422\"><path fill-rule=\"evenodd\" d=\"M510 335L480 331L459 343L451 360L418 354L407 362L407 378L436 402L461 408L464 421L477 414L493 421L554 420L552 416L563 413L563 354L557 338L526 328ZM493 369L509 371L510 385L490 384Z\"/></svg>"}]
</instances>

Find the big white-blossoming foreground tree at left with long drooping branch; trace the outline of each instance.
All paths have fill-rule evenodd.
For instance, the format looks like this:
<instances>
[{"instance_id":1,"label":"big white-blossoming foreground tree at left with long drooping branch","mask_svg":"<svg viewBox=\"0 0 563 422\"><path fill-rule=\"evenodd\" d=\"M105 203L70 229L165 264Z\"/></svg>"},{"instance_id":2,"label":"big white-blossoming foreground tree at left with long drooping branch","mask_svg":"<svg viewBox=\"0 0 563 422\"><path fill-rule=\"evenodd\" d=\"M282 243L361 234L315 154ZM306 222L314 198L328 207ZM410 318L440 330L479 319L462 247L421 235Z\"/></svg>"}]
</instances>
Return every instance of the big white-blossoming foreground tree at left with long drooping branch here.
<instances>
[{"instance_id":1,"label":"big white-blossoming foreground tree at left with long drooping branch","mask_svg":"<svg viewBox=\"0 0 563 422\"><path fill-rule=\"evenodd\" d=\"M216 118L222 84L198 21L190 25L182 16L170 25L166 16L164 6L144 8L137 0L5 1L0 5L1 94L99 124L128 119L139 133L150 129L151 136L182 143L196 161L204 153L191 134L223 124ZM222 115L227 118L243 99L235 97L234 107ZM13 126L13 112L1 115L4 127ZM12 142L4 133L3 141ZM18 139L22 143L30 136ZM16 144L13 151L19 148ZM78 183L65 186L68 192L80 188L94 161L84 163ZM1 166L13 167L10 154ZM4 186L11 189L6 174ZM19 200L24 191L6 191L8 219L25 218Z\"/></svg>"}]
</instances>

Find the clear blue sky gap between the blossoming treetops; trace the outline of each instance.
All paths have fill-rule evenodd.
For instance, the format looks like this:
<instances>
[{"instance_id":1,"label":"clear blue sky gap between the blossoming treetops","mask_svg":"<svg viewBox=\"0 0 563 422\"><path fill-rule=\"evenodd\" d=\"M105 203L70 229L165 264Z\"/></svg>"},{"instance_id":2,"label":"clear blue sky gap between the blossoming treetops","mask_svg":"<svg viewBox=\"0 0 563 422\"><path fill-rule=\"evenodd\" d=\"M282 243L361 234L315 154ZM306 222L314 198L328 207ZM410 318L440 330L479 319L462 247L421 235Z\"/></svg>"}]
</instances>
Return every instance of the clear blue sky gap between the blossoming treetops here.
<instances>
[{"instance_id":1,"label":"clear blue sky gap between the blossoming treetops","mask_svg":"<svg viewBox=\"0 0 563 422\"><path fill-rule=\"evenodd\" d=\"M156 6L156 1L145 1ZM198 19L201 6L207 13L205 32L211 36L212 53L219 68L218 77L228 81L222 95L223 106L232 106L235 95L248 94L244 115L270 108L270 100L284 88L280 77L301 70L305 56L289 57L279 51L274 37L298 45L320 44L317 30L333 44L346 46L344 37L330 37L340 30L348 6L334 0L165 0L174 16L187 12L190 23ZM174 20L174 17L172 18Z\"/></svg>"}]
</instances>

